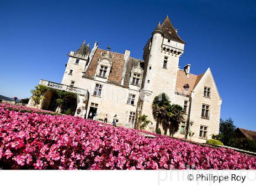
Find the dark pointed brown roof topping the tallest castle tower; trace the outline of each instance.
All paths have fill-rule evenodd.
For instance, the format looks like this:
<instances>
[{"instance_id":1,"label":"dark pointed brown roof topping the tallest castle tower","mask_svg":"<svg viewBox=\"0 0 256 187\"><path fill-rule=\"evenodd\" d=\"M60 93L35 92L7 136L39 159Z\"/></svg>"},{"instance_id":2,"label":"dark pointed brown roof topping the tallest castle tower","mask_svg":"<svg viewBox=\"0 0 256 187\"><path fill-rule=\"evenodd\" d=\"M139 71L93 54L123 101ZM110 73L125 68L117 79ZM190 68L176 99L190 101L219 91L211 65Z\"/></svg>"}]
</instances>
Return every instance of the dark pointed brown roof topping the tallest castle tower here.
<instances>
[{"instance_id":1,"label":"dark pointed brown roof topping the tallest castle tower","mask_svg":"<svg viewBox=\"0 0 256 187\"><path fill-rule=\"evenodd\" d=\"M155 31L161 31L165 37L170 38L173 41L180 42L180 43L186 43L184 42L181 37L177 34L174 26L171 24L171 21L168 16L166 16L163 23L156 27Z\"/></svg>"}]
</instances>

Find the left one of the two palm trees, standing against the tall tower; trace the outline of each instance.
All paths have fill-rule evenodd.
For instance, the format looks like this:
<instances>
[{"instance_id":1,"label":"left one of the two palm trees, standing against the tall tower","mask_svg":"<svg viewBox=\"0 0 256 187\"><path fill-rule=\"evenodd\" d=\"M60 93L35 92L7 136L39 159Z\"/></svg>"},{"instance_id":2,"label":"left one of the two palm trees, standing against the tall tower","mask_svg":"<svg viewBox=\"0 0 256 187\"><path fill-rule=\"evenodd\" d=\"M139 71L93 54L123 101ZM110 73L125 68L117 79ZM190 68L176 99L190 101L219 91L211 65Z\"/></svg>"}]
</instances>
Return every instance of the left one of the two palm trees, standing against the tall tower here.
<instances>
[{"instance_id":1,"label":"left one of the two palm trees, standing against the tall tower","mask_svg":"<svg viewBox=\"0 0 256 187\"><path fill-rule=\"evenodd\" d=\"M159 128L159 124L161 124L162 119L166 114L166 109L169 105L170 101L168 100L168 96L165 93L155 96L152 103L152 114L156 120L155 130Z\"/></svg>"}]
</instances>

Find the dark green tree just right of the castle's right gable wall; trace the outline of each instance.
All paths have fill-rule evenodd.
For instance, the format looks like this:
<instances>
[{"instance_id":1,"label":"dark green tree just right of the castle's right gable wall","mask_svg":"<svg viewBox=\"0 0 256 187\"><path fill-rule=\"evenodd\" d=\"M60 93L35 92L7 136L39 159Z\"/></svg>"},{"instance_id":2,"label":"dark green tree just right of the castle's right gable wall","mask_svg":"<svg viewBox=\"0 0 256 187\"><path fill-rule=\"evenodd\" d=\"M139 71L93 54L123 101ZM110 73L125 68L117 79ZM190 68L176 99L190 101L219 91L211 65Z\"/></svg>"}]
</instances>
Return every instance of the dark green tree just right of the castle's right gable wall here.
<instances>
[{"instance_id":1,"label":"dark green tree just right of the castle's right gable wall","mask_svg":"<svg viewBox=\"0 0 256 187\"><path fill-rule=\"evenodd\" d=\"M235 135L236 126L234 125L233 119L220 119L219 122L219 134L222 135L222 142L224 145L231 145L234 135Z\"/></svg>"}]
</instances>

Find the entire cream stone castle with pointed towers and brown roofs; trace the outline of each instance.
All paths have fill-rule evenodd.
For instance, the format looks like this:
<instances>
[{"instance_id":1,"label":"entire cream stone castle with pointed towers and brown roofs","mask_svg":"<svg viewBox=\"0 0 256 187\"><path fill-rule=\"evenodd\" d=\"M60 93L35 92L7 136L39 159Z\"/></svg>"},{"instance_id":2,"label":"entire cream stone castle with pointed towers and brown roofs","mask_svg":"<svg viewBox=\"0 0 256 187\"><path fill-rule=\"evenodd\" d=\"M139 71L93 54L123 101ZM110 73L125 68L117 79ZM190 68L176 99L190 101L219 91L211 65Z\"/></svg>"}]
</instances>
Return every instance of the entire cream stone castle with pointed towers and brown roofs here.
<instances>
[{"instance_id":1,"label":"entire cream stone castle with pointed towers and brown roofs","mask_svg":"<svg viewBox=\"0 0 256 187\"><path fill-rule=\"evenodd\" d=\"M58 104L58 95L47 91L39 108L65 114L67 109L76 114L80 108L88 118L108 115L112 123L117 114L118 125L133 128L139 115L147 115L151 121L146 130L155 131L152 102L156 95L166 93L170 101L183 107L186 121L181 122L178 138L190 138L206 142L213 134L219 134L219 118L222 99L208 68L205 73L190 73L191 65L179 67L179 59L185 43L177 34L168 16L158 24L144 47L143 60L124 54L100 49L85 42L71 51L61 83L40 80L41 85L73 93ZM74 95L76 94L76 96ZM35 107L33 99L28 104ZM161 128L161 126L160 126ZM163 130L161 130L163 132ZM192 137L188 133L193 132Z\"/></svg>"}]
</instances>

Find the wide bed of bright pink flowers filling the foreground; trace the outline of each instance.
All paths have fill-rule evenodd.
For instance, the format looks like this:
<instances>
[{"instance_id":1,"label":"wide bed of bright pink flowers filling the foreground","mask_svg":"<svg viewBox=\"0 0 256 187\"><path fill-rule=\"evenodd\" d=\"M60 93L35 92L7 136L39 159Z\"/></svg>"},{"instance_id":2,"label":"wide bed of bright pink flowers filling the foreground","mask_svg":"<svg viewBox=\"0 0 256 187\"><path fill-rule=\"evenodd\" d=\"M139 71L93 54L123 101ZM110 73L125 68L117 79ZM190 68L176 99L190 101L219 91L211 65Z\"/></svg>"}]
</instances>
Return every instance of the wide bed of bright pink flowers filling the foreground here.
<instances>
[{"instance_id":1,"label":"wide bed of bright pink flowers filling the foreground","mask_svg":"<svg viewBox=\"0 0 256 187\"><path fill-rule=\"evenodd\" d=\"M0 107L2 169L256 169L256 157L80 117ZM150 133L152 134L152 133Z\"/></svg>"}]
</instances>

